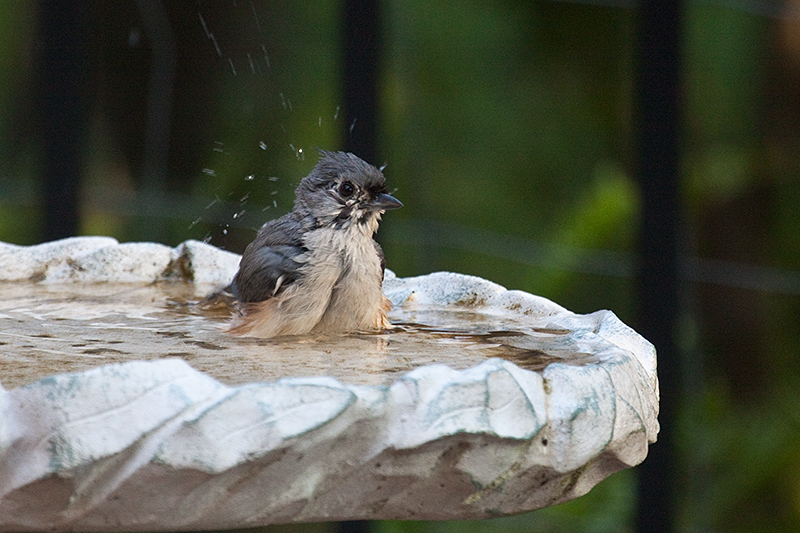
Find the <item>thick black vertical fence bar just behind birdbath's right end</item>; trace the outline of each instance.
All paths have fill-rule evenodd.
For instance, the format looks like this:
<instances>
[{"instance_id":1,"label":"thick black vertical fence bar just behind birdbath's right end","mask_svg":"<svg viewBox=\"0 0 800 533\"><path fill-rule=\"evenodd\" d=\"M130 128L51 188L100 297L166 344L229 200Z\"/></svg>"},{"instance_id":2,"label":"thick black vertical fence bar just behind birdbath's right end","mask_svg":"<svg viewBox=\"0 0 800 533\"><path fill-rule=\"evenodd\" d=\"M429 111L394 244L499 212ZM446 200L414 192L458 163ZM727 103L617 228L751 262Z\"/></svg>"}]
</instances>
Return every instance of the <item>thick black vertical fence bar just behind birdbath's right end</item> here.
<instances>
[{"instance_id":1,"label":"thick black vertical fence bar just behind birdbath's right end","mask_svg":"<svg viewBox=\"0 0 800 533\"><path fill-rule=\"evenodd\" d=\"M679 0L642 0L638 20L638 180L642 196L638 330L658 350L658 442L639 467L637 530L675 529L679 312L681 13Z\"/></svg>"}]
</instances>

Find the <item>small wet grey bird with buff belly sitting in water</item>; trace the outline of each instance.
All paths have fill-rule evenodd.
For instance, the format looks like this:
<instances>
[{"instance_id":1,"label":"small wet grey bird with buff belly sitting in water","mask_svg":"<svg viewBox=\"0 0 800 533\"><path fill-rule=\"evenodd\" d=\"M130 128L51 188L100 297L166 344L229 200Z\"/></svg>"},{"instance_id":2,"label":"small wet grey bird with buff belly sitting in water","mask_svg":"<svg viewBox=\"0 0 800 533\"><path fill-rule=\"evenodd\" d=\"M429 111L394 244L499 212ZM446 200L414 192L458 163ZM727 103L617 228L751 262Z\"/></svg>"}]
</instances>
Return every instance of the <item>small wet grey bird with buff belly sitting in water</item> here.
<instances>
[{"instance_id":1,"label":"small wet grey bird with buff belly sitting in water","mask_svg":"<svg viewBox=\"0 0 800 533\"><path fill-rule=\"evenodd\" d=\"M402 203L381 170L350 152L318 150L292 211L264 224L242 254L229 291L246 337L332 334L390 327L381 215Z\"/></svg>"}]
</instances>

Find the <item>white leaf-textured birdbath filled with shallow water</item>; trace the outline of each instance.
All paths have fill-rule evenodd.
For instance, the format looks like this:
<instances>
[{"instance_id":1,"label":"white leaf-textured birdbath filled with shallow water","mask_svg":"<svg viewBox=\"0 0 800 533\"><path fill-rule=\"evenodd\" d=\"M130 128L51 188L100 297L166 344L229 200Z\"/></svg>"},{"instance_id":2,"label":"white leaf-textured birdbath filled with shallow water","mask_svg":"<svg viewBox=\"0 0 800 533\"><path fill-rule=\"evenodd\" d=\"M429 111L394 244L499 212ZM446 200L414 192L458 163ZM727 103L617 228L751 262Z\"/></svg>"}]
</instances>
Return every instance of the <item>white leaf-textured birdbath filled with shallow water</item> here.
<instances>
[{"instance_id":1,"label":"white leaf-textured birdbath filled with shallow water","mask_svg":"<svg viewBox=\"0 0 800 533\"><path fill-rule=\"evenodd\" d=\"M240 338L197 305L238 260L0 243L0 531L497 517L656 440L655 350L610 311L387 272L389 331Z\"/></svg>"}]
</instances>

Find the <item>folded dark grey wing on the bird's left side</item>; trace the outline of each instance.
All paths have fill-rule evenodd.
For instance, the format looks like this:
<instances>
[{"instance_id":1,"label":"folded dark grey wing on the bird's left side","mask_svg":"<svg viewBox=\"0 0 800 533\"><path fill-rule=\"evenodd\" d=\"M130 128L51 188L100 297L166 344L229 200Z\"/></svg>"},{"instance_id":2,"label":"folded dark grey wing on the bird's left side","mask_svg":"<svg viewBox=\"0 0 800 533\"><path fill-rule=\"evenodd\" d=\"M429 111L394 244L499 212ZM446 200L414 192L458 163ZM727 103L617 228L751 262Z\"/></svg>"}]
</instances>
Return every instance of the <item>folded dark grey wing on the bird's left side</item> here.
<instances>
[{"instance_id":1,"label":"folded dark grey wing on the bird's left side","mask_svg":"<svg viewBox=\"0 0 800 533\"><path fill-rule=\"evenodd\" d=\"M306 258L299 232L288 220L274 220L261 228L242 255L231 292L241 302L268 300L294 283Z\"/></svg>"}]
</instances>

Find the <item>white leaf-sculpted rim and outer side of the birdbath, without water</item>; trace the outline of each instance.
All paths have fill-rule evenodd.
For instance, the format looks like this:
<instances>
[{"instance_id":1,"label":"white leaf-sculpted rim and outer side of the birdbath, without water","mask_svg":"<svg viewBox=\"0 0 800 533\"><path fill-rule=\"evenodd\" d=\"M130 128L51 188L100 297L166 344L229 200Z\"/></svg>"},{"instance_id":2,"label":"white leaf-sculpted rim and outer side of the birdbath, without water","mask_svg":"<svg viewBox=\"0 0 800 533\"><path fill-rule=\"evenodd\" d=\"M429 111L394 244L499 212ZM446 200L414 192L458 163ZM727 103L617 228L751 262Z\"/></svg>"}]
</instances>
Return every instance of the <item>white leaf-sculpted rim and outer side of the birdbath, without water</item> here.
<instances>
[{"instance_id":1,"label":"white leaf-sculpted rim and outer side of the birdbath, without water","mask_svg":"<svg viewBox=\"0 0 800 533\"><path fill-rule=\"evenodd\" d=\"M198 241L0 243L0 281L15 287L172 280L205 291L237 264ZM225 384L159 357L0 389L0 531L485 518L575 498L646 457L658 433L655 350L612 312L577 315L447 272L387 272L385 292L404 316L523 324L540 337L492 342L524 355L547 338L561 360L540 370L501 358L426 364L377 385ZM591 360L572 364L570 350Z\"/></svg>"}]
</instances>

